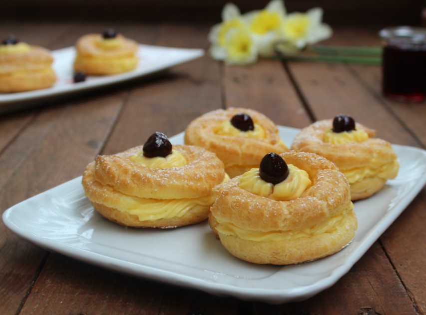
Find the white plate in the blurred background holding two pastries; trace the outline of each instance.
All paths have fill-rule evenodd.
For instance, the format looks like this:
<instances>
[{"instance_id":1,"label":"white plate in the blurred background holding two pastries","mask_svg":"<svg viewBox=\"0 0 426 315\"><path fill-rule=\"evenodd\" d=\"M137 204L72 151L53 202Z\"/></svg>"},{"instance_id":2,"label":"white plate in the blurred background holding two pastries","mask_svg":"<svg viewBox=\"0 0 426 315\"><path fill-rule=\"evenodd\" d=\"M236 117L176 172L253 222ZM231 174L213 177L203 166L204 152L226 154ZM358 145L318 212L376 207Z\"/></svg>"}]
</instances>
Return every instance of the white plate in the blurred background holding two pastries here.
<instances>
[{"instance_id":1,"label":"white plate in the blurred background holding two pastries","mask_svg":"<svg viewBox=\"0 0 426 315\"><path fill-rule=\"evenodd\" d=\"M52 67L57 77L55 84L52 87L35 91L0 93L0 111L11 110L14 107L19 107L19 104L25 104L26 106L37 104L36 100L39 101L52 96L76 93L146 76L199 58L204 54L204 50L140 44L138 50L139 63L136 69L115 75L87 76L86 81L79 83L73 83L72 79L72 63L75 57L74 47L53 50L51 53L54 60Z\"/></svg>"}]
</instances>

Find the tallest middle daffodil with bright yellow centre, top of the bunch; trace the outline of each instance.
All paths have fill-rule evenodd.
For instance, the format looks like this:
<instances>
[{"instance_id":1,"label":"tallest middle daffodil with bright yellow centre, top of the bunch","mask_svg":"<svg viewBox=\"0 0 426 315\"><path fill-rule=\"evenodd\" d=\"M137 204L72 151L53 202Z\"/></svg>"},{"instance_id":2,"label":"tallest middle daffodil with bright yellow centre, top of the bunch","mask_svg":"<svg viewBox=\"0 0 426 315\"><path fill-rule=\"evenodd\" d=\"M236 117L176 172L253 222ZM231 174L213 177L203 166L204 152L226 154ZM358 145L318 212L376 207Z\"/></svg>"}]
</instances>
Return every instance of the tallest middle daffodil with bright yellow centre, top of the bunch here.
<instances>
[{"instance_id":1,"label":"tallest middle daffodil with bright yellow centre, top of the bunch","mask_svg":"<svg viewBox=\"0 0 426 315\"><path fill-rule=\"evenodd\" d=\"M280 35L286 18L286 8L282 0L270 1L263 10L244 14L256 41L259 55L270 57L274 53L273 43Z\"/></svg>"}]
</instances>

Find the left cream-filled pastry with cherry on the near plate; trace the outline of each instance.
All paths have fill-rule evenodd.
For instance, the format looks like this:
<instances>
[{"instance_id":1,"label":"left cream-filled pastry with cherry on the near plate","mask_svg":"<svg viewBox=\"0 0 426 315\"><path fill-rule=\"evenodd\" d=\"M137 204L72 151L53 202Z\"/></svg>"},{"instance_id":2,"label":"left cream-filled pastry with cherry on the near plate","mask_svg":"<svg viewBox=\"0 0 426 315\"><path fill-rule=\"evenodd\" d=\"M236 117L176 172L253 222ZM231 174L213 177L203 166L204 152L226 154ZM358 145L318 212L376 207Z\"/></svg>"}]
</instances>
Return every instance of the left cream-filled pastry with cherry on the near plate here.
<instances>
[{"instance_id":1,"label":"left cream-filled pastry with cherry on the near plate","mask_svg":"<svg viewBox=\"0 0 426 315\"><path fill-rule=\"evenodd\" d=\"M207 219L212 188L226 179L215 154L172 146L156 132L143 146L97 156L84 171L82 184L94 209L113 222L174 228Z\"/></svg>"}]
</instances>

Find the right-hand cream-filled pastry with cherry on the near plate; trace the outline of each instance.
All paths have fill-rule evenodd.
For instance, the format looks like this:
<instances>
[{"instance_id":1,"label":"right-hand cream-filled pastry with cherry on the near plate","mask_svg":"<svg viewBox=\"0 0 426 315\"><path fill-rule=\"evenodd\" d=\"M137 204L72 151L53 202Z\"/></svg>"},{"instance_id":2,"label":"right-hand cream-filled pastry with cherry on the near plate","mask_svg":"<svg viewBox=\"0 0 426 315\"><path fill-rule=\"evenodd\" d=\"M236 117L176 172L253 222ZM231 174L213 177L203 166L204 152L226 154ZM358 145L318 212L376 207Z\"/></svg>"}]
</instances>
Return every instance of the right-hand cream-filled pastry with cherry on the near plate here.
<instances>
[{"instance_id":1,"label":"right-hand cream-filled pastry with cherry on the near plate","mask_svg":"<svg viewBox=\"0 0 426 315\"><path fill-rule=\"evenodd\" d=\"M292 143L296 151L313 152L334 162L351 185L352 200L370 197L398 174L397 154L376 131L346 115L317 121Z\"/></svg>"}]
</instances>

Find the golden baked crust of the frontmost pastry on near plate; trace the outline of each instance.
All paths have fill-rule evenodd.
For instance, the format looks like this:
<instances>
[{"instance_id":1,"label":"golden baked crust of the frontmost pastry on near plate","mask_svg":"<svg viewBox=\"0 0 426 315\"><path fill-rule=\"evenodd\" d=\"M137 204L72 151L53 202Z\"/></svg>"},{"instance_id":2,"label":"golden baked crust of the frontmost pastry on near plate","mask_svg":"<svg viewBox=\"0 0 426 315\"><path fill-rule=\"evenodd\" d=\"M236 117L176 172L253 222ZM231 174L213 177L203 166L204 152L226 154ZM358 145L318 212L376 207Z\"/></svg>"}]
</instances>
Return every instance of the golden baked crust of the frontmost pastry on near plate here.
<instances>
[{"instance_id":1,"label":"golden baked crust of the frontmost pastry on near plate","mask_svg":"<svg viewBox=\"0 0 426 315\"><path fill-rule=\"evenodd\" d=\"M332 162L316 154L289 151L280 156L288 164L304 169L312 186L299 198L276 201L240 188L240 176L233 178L214 190L218 197L210 209L212 230L232 255L258 264L301 263L341 250L357 229L346 177ZM319 229L330 222L335 223L325 231ZM238 234L221 233L220 224L279 237L251 240Z\"/></svg>"}]
</instances>

